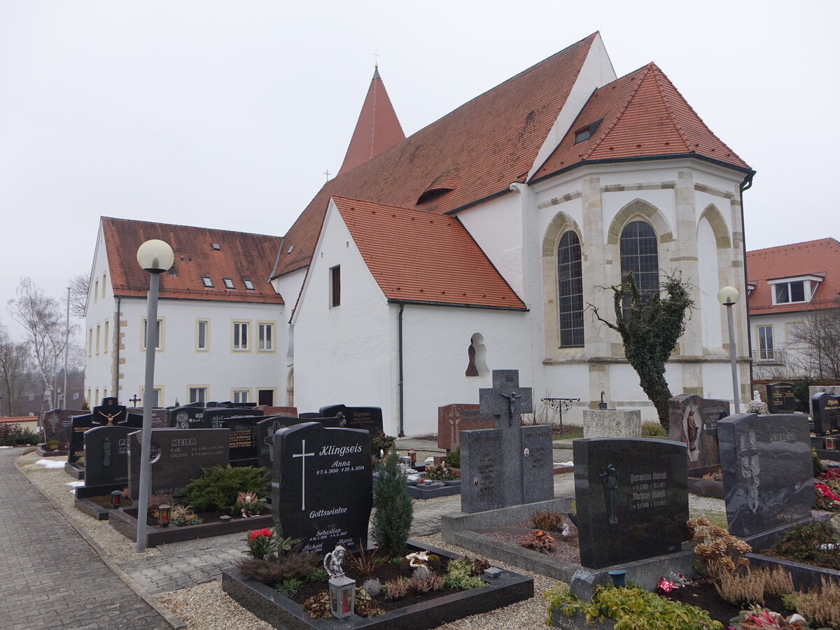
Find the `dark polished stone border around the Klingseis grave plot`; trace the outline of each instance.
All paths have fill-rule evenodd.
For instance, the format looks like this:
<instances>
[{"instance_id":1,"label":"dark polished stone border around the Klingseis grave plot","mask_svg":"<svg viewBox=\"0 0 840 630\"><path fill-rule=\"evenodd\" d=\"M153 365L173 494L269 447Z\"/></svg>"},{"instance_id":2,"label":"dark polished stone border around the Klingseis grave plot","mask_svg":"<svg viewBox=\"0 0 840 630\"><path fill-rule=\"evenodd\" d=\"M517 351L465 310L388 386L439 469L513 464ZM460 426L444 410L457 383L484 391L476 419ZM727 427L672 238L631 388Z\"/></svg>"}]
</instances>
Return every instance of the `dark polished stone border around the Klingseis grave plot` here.
<instances>
[{"instance_id":1,"label":"dark polished stone border around the Klingseis grave plot","mask_svg":"<svg viewBox=\"0 0 840 630\"><path fill-rule=\"evenodd\" d=\"M455 559L459 556L443 549L409 540L409 549L426 550L441 557ZM349 617L349 619L312 619L302 607L289 598L281 596L274 589L249 580L233 567L222 570L222 590L257 617L274 627L289 630L319 628L319 630L354 630L355 628L377 628L377 630L429 630L442 623L453 622L481 612L489 612L502 606L533 597L533 578L513 571L502 571L495 579L482 578L486 584L469 591L459 591L412 606L405 606L386 612L379 617Z\"/></svg>"}]
</instances>

